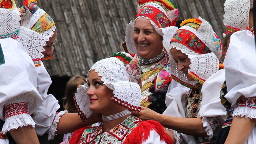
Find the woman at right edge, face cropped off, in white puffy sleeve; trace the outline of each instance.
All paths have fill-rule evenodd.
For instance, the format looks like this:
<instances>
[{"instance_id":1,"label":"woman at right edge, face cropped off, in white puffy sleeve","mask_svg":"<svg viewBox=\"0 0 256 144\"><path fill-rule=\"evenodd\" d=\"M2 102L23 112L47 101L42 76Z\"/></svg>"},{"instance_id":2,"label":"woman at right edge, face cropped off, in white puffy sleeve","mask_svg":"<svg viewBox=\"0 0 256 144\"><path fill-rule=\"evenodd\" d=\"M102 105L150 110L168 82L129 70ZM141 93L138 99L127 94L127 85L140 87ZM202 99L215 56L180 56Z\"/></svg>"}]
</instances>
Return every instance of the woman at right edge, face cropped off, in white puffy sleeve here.
<instances>
[{"instance_id":1,"label":"woman at right edge, face cropped off, in white puffy sleeve","mask_svg":"<svg viewBox=\"0 0 256 144\"><path fill-rule=\"evenodd\" d=\"M223 23L231 35L224 60L226 81L221 102L227 120L216 143L256 143L256 53L253 35L253 0L226 0ZM225 142L226 141L226 142Z\"/></svg>"}]
</instances>

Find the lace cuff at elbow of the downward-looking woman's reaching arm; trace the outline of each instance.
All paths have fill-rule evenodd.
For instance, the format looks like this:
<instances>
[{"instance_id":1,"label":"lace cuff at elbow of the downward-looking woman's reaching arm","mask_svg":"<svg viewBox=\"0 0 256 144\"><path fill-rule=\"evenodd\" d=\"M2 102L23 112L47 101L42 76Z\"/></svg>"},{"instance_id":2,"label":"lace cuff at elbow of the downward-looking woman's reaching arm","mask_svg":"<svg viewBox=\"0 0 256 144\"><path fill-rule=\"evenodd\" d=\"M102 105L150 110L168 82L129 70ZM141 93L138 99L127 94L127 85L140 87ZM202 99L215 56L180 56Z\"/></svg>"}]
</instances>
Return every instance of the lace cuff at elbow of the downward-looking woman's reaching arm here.
<instances>
[{"instance_id":1,"label":"lace cuff at elbow of the downward-looking woman's reaching arm","mask_svg":"<svg viewBox=\"0 0 256 144\"><path fill-rule=\"evenodd\" d=\"M217 130L222 125L218 117L203 117L202 122L203 122L203 127L206 127L206 129L204 130L209 136L208 140L211 140L215 130Z\"/></svg>"}]
</instances>

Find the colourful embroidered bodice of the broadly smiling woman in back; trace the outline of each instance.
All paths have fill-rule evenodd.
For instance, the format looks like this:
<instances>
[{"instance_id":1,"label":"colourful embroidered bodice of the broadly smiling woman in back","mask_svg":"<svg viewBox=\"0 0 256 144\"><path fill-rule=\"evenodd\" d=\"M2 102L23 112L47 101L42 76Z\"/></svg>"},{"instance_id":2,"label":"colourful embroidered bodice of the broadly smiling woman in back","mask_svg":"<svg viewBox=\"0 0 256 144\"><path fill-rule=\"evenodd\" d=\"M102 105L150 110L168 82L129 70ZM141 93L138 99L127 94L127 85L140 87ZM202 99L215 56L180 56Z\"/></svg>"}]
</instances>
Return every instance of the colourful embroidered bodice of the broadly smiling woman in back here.
<instances>
[{"instance_id":1,"label":"colourful embroidered bodice of the broadly smiling woman in back","mask_svg":"<svg viewBox=\"0 0 256 144\"><path fill-rule=\"evenodd\" d=\"M142 65L141 69L141 106L149 107L162 114L166 109L165 94L172 80L169 77L170 63L166 64L166 58L163 58L157 63Z\"/></svg>"}]
</instances>

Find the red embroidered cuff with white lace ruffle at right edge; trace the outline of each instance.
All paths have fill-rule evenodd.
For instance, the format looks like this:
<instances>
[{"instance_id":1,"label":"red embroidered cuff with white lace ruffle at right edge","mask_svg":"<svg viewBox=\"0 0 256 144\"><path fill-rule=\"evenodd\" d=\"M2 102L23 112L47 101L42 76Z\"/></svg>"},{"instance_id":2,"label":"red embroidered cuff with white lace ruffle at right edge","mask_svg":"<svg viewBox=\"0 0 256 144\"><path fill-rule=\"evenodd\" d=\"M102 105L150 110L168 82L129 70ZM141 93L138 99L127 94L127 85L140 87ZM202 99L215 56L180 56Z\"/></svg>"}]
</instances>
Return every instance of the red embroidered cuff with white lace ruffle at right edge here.
<instances>
[{"instance_id":1,"label":"red embroidered cuff with white lace ruffle at right edge","mask_svg":"<svg viewBox=\"0 0 256 144\"><path fill-rule=\"evenodd\" d=\"M256 118L256 97L240 96L237 99L237 108L233 112L233 117L236 116Z\"/></svg>"}]
</instances>

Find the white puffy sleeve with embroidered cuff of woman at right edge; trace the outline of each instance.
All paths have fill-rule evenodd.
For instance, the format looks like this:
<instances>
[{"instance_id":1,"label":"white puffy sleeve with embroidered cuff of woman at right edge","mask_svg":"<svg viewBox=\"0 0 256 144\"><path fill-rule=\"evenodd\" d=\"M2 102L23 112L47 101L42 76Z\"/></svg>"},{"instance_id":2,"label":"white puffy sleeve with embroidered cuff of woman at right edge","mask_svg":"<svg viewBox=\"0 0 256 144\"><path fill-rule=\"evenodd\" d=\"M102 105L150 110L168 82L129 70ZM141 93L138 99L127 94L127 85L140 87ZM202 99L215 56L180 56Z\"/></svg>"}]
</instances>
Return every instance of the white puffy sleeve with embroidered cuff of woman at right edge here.
<instances>
[{"instance_id":1,"label":"white puffy sleeve with embroidered cuff of woman at right edge","mask_svg":"<svg viewBox=\"0 0 256 144\"><path fill-rule=\"evenodd\" d=\"M224 61L228 93L225 98L236 107L233 117L256 118L256 52L251 31L231 35Z\"/></svg>"}]
</instances>

